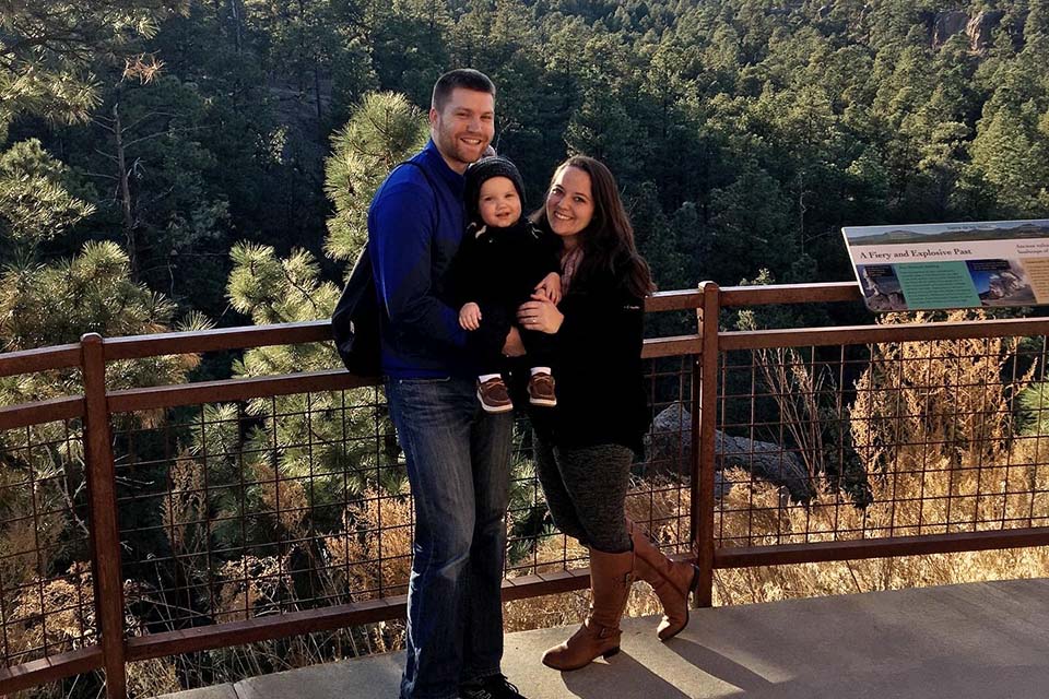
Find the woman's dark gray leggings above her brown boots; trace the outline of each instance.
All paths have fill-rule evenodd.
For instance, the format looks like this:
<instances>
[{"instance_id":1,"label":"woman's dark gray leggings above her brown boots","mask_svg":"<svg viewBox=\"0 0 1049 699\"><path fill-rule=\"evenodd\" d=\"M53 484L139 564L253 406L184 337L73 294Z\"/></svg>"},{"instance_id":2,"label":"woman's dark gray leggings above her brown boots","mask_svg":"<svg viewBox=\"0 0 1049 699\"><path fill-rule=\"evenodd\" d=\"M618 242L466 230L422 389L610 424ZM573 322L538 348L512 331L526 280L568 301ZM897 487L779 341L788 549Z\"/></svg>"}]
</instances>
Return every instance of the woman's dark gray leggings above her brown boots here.
<instances>
[{"instance_id":1,"label":"woman's dark gray leggings above her brown boots","mask_svg":"<svg viewBox=\"0 0 1049 699\"><path fill-rule=\"evenodd\" d=\"M620 445L565 449L534 438L535 471L554 524L609 554L630 550L624 519L634 453Z\"/></svg>"}]
</instances>

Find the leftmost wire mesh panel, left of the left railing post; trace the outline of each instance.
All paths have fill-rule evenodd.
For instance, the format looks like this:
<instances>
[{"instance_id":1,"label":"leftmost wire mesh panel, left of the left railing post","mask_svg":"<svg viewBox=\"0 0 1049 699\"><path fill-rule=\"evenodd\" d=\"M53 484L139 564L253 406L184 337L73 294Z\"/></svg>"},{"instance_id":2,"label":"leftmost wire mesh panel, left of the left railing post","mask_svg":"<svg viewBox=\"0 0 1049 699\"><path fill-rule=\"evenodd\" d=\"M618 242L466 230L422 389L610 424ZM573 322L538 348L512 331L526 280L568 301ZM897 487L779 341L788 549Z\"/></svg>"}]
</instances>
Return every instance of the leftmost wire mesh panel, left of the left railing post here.
<instances>
[{"instance_id":1,"label":"leftmost wire mesh panel, left of the left railing post","mask_svg":"<svg viewBox=\"0 0 1049 699\"><path fill-rule=\"evenodd\" d=\"M0 431L4 667L97 640L79 419Z\"/></svg>"}]
</instances>

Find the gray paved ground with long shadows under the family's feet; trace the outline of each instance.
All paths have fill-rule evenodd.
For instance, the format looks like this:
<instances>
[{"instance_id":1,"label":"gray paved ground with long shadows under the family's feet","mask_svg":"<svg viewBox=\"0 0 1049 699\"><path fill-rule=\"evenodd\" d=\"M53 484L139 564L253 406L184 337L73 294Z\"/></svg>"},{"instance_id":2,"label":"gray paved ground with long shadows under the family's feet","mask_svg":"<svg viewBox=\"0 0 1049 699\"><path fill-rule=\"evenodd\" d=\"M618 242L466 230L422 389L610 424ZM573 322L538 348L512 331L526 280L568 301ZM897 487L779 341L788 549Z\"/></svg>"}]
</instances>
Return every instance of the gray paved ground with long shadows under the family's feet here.
<instances>
[{"instance_id":1,"label":"gray paved ground with long shadows under the family's feet","mask_svg":"<svg viewBox=\"0 0 1049 699\"><path fill-rule=\"evenodd\" d=\"M529 699L1045 699L1049 580L1014 580L700 609L669 643L624 625L623 652L573 673L542 666L570 629L507 637ZM397 697L403 653L255 677L166 699Z\"/></svg>"}]
</instances>

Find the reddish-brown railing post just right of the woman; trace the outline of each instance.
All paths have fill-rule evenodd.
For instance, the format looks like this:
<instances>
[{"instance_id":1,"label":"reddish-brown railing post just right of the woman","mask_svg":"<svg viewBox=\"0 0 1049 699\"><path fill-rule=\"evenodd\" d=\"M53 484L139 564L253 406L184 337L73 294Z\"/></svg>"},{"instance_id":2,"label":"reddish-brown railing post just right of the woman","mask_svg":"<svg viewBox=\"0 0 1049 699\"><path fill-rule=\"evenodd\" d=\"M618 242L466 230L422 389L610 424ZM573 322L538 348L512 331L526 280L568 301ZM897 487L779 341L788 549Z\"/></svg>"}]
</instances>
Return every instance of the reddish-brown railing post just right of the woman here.
<instances>
[{"instance_id":1,"label":"reddish-brown railing post just right of the woman","mask_svg":"<svg viewBox=\"0 0 1049 699\"><path fill-rule=\"evenodd\" d=\"M718 424L718 315L721 289L714 282L699 285L703 308L697 311L703 354L693 366L692 388L692 535L699 566L696 604L714 604L714 472Z\"/></svg>"}]
</instances>

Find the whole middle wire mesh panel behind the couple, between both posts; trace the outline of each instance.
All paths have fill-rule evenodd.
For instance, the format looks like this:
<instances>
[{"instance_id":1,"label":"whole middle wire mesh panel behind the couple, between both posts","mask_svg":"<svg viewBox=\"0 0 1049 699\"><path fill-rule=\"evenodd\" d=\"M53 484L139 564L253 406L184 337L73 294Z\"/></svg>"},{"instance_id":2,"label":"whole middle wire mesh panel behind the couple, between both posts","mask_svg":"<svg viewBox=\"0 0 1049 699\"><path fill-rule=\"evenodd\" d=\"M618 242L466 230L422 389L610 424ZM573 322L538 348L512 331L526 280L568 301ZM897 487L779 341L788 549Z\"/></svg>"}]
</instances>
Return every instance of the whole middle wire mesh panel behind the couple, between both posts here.
<instances>
[{"instance_id":1,"label":"whole middle wire mesh panel behind the couple, between both posts","mask_svg":"<svg viewBox=\"0 0 1049 699\"><path fill-rule=\"evenodd\" d=\"M655 417L627 510L688 549L692 362L648 363ZM129 635L403 595L414 534L381 389L269 396L115 418ZM508 577L585 567L554 528L518 419Z\"/></svg>"}]
</instances>

